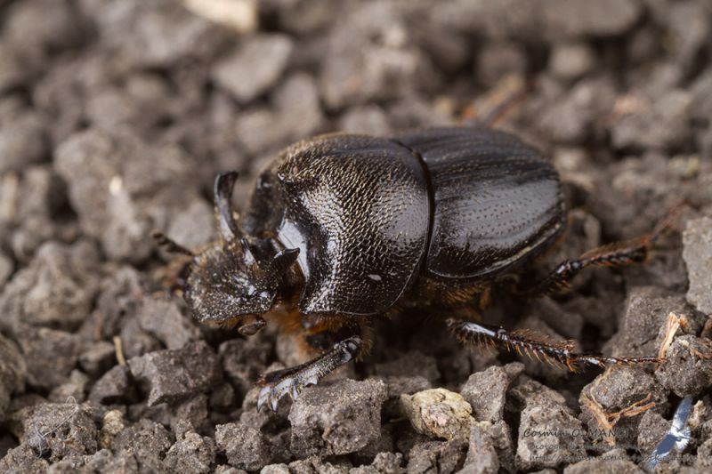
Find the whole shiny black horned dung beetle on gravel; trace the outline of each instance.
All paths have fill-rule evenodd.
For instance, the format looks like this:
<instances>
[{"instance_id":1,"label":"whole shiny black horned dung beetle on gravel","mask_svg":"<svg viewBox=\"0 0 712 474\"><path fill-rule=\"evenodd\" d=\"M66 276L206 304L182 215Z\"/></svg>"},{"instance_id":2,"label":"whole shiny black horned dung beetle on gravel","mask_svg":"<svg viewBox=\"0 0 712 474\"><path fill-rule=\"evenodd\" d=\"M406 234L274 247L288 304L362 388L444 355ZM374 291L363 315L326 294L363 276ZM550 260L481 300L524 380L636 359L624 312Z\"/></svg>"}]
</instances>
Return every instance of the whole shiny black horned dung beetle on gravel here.
<instances>
[{"instance_id":1,"label":"whole shiny black horned dung beetle on gravel","mask_svg":"<svg viewBox=\"0 0 712 474\"><path fill-rule=\"evenodd\" d=\"M247 212L231 206L238 173L214 182L220 238L190 255L182 292L198 321L256 333L278 302L320 355L263 375L258 409L276 410L356 358L376 317L406 305L443 309L462 341L489 342L576 370L654 363L574 351L534 333L474 321L494 287L554 293L589 266L644 261L659 226L562 262L530 285L513 278L554 245L566 223L554 167L514 135L486 126L401 133L334 133L283 150L259 176ZM509 285L505 285L509 282Z\"/></svg>"}]
</instances>

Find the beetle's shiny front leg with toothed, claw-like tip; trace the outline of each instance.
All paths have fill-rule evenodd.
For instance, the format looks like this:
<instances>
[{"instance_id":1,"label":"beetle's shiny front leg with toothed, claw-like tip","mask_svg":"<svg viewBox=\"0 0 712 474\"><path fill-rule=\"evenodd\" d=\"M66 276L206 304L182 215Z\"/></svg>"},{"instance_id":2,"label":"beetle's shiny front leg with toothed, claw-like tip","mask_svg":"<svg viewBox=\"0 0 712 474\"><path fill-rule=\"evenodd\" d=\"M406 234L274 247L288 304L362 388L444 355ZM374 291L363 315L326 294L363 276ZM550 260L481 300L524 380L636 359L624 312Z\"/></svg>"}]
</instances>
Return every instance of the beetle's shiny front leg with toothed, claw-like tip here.
<instances>
[{"instance_id":1,"label":"beetle's shiny front leg with toothed, claw-like tip","mask_svg":"<svg viewBox=\"0 0 712 474\"><path fill-rule=\"evenodd\" d=\"M318 358L299 366L264 374L258 382L263 388L257 398L257 411L267 404L276 412L280 398L288 393L295 400L304 387L316 385L323 377L355 358L360 347L361 338L352 336L336 342L328 352Z\"/></svg>"}]
</instances>

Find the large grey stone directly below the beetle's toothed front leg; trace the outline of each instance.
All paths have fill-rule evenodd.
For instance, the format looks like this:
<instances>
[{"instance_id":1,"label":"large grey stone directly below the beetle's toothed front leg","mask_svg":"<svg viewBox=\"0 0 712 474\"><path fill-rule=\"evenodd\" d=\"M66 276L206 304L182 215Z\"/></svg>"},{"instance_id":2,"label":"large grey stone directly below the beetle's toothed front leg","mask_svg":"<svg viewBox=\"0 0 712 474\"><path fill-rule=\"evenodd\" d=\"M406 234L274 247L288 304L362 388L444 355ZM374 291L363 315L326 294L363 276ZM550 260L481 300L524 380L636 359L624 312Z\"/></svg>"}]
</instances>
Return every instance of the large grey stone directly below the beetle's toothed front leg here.
<instances>
[{"instance_id":1,"label":"large grey stone directly below the beetle's toothed front leg","mask_svg":"<svg viewBox=\"0 0 712 474\"><path fill-rule=\"evenodd\" d=\"M292 405L292 452L349 454L367 446L381 433L384 382L342 380L303 390Z\"/></svg>"}]
</instances>

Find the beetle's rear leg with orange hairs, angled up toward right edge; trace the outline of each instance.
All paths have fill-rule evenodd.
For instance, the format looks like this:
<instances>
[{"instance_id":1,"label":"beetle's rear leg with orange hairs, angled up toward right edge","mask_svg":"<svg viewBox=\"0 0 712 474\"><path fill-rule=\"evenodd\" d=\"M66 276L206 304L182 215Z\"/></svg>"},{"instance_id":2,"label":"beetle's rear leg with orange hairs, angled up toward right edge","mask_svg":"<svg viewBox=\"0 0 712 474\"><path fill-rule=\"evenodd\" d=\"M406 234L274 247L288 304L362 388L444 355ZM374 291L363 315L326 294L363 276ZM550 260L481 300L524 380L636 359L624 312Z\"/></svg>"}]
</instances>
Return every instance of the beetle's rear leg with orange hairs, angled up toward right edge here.
<instances>
[{"instance_id":1,"label":"beetle's rear leg with orange hairs, angled up toward right edge","mask_svg":"<svg viewBox=\"0 0 712 474\"><path fill-rule=\"evenodd\" d=\"M649 234L623 242L602 245L583 253L578 259L563 261L542 280L529 287L517 289L516 293L527 296L545 296L568 288L570 281L578 275L578 272L587 267L622 267L646 261L651 253L652 244L664 230L671 226L682 205L684 203L673 207L665 219L660 221Z\"/></svg>"}]
</instances>

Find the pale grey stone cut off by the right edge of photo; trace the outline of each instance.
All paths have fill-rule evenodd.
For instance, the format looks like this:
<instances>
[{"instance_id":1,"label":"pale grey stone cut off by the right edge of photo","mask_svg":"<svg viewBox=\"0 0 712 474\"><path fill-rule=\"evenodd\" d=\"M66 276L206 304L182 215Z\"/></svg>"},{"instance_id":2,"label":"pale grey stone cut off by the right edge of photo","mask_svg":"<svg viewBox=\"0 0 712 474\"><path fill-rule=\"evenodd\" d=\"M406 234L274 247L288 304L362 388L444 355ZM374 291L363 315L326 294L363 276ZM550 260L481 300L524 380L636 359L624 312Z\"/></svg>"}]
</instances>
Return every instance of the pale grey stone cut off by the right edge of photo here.
<instances>
[{"instance_id":1,"label":"pale grey stone cut off by the right edge of photo","mask_svg":"<svg viewBox=\"0 0 712 474\"><path fill-rule=\"evenodd\" d=\"M687 301L699 311L712 315L712 218L687 221L683 245L690 280Z\"/></svg>"}]
</instances>

